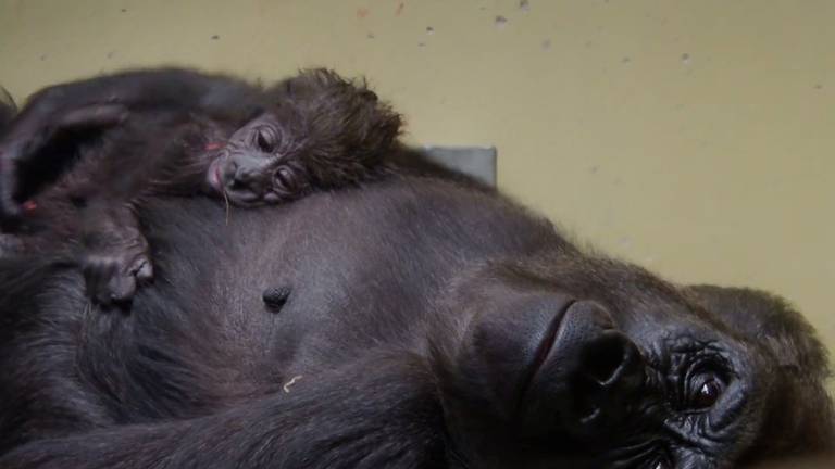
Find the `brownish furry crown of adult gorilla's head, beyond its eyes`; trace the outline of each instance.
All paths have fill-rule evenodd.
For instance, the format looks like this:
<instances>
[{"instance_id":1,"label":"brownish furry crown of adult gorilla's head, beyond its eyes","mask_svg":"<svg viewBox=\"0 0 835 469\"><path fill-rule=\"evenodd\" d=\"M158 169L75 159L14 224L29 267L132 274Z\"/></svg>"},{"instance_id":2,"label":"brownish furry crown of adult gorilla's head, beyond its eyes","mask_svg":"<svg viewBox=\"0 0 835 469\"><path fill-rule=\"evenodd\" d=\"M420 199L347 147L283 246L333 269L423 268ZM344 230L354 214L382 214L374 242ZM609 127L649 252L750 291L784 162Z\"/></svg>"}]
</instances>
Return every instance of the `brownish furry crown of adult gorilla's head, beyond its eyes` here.
<instances>
[{"instance_id":1,"label":"brownish furry crown of adult gorilla's head, beyond its eyes","mask_svg":"<svg viewBox=\"0 0 835 469\"><path fill-rule=\"evenodd\" d=\"M694 286L696 301L752 343L776 367L750 458L835 452L835 411L826 392L830 364L814 329L780 296L759 290Z\"/></svg>"}]
</instances>

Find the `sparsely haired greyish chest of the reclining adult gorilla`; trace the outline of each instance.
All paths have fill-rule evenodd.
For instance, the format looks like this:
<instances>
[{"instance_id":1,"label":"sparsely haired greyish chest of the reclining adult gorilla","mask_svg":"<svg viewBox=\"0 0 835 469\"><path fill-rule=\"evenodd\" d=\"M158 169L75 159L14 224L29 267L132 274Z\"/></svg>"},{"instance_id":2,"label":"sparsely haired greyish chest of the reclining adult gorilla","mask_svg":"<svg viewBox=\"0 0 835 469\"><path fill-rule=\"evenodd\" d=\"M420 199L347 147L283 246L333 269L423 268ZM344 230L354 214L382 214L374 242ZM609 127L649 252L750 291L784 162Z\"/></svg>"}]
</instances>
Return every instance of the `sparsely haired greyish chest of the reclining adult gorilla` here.
<instances>
[{"instance_id":1,"label":"sparsely haired greyish chest of the reclining adult gorilla","mask_svg":"<svg viewBox=\"0 0 835 469\"><path fill-rule=\"evenodd\" d=\"M185 333L208 331L199 339L219 351L215 360L258 385L372 348L416 348L415 330L458 274L564 242L501 199L440 181L228 214L214 201L160 204L147 217L159 279L134 314L170 321L162 312L176 302L191 324ZM176 219L154 215L175 210ZM281 308L262 300L275 288L289 291Z\"/></svg>"}]
</instances>

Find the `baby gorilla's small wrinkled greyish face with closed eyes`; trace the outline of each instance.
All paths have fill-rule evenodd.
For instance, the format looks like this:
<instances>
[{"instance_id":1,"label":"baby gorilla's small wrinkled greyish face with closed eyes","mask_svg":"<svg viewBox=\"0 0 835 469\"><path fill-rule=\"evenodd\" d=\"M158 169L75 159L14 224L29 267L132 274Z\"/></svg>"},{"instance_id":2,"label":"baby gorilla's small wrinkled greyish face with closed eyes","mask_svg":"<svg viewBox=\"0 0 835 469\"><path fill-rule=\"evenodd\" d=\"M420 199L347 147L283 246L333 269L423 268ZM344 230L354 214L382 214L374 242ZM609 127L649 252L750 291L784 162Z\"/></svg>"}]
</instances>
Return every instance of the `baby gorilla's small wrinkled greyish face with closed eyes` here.
<instances>
[{"instance_id":1,"label":"baby gorilla's small wrinkled greyish face with closed eyes","mask_svg":"<svg viewBox=\"0 0 835 469\"><path fill-rule=\"evenodd\" d=\"M308 185L299 151L277 115L264 113L232 135L207 172L210 191L240 206L294 199Z\"/></svg>"}]
</instances>

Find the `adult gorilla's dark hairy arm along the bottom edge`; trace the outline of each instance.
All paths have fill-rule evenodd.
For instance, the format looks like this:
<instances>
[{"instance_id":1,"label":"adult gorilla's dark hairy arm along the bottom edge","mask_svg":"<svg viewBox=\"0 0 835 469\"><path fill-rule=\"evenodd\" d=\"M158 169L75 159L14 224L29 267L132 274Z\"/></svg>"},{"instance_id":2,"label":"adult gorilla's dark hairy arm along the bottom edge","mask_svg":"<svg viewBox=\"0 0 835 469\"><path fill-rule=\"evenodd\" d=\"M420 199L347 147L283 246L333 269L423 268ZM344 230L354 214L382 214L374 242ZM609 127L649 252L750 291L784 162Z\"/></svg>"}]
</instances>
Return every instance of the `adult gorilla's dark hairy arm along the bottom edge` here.
<instances>
[{"instance_id":1,"label":"adult gorilla's dark hairy arm along the bottom edge","mask_svg":"<svg viewBox=\"0 0 835 469\"><path fill-rule=\"evenodd\" d=\"M285 386L208 417L33 442L0 467L446 467L443 416L419 357L373 356Z\"/></svg>"}]
</instances>

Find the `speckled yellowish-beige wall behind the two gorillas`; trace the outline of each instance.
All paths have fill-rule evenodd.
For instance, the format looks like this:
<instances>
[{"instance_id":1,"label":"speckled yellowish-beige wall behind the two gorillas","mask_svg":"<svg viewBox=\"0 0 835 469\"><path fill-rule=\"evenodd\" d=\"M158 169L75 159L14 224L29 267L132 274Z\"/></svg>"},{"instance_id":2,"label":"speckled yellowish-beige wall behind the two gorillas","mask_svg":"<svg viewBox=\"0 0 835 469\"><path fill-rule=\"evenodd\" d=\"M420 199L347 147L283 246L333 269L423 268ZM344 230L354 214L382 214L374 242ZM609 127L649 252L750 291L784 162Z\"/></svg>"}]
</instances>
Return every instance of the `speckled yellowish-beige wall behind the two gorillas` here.
<instances>
[{"instance_id":1,"label":"speckled yellowish-beige wall behind the two gorillas","mask_svg":"<svg viewBox=\"0 0 835 469\"><path fill-rule=\"evenodd\" d=\"M412 141L495 144L500 186L583 239L780 292L835 345L833 23L831 0L0 0L0 83L365 74Z\"/></svg>"}]
</instances>

